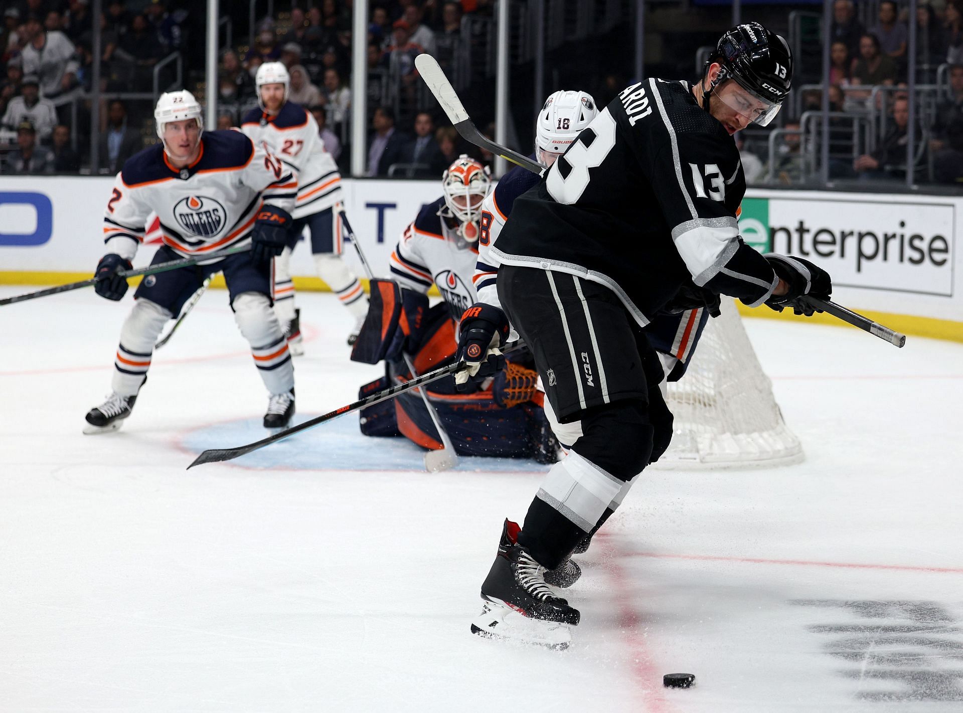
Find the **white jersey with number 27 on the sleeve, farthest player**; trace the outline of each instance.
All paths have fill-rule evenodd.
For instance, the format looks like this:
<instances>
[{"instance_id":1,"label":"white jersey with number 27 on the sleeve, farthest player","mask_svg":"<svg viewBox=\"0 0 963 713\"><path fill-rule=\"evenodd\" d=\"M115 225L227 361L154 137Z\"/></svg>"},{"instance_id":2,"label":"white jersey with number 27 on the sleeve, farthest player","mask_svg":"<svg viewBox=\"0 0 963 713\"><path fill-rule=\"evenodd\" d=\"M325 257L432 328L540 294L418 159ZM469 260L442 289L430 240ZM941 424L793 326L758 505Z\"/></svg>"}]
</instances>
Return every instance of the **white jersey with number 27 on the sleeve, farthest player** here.
<instances>
[{"instance_id":1,"label":"white jersey with number 27 on the sleeve, farthest player","mask_svg":"<svg viewBox=\"0 0 963 713\"><path fill-rule=\"evenodd\" d=\"M299 104L285 102L273 116L252 109L242 119L241 131L255 143L266 141L272 152L298 173L295 218L313 216L344 201L341 174L325 150L318 122Z\"/></svg>"}]
</instances>

